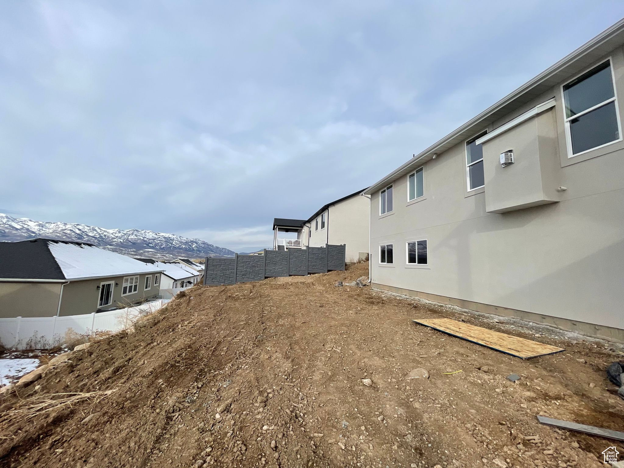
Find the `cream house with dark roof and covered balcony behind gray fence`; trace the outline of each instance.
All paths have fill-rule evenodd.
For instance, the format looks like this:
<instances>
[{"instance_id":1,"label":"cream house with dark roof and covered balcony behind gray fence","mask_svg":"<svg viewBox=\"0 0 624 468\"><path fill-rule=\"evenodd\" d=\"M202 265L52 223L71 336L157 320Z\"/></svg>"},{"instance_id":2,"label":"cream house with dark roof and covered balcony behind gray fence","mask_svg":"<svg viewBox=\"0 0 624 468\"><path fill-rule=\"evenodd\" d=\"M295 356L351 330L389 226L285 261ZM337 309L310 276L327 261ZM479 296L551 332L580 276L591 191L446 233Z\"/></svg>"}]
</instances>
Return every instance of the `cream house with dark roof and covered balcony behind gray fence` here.
<instances>
[{"instance_id":1,"label":"cream house with dark roof and covered balcony behind gray fence","mask_svg":"<svg viewBox=\"0 0 624 468\"><path fill-rule=\"evenodd\" d=\"M321 207L307 220L275 218L273 250L346 244L346 261L366 260L369 250L370 199L363 190ZM296 233L296 239L280 238L280 232Z\"/></svg>"}]
</instances>

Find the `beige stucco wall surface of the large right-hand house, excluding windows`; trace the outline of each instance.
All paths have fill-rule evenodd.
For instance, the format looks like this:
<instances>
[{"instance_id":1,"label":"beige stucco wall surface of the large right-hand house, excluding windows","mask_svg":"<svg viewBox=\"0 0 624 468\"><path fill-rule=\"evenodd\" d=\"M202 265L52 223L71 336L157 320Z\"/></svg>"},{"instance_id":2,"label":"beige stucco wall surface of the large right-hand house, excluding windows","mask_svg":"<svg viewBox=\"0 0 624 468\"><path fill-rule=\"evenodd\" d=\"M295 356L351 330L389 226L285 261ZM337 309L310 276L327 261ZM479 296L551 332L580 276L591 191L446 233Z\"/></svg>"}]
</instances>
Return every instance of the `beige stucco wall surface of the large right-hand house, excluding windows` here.
<instances>
[{"instance_id":1,"label":"beige stucco wall surface of the large right-hand house, excluding windows","mask_svg":"<svg viewBox=\"0 0 624 468\"><path fill-rule=\"evenodd\" d=\"M624 117L622 55L618 50L610 56L620 117ZM486 212L488 179L484 189L467 191L462 142L424 164L424 197L417 202L407 202L407 176L394 180L392 213L379 216L379 192L373 193L374 283L624 329L624 144L568 158L560 85L492 127L553 96L557 104L549 111L552 114L541 114L535 122L553 117L558 148L544 152L546 156L540 155L535 163L542 164L542 171L553 168L552 173L544 172L541 183L554 202L506 213ZM527 122L519 131L531 125ZM497 164L488 157L484 162ZM510 168L520 171L520 165ZM486 176L489 173L494 172L486 168ZM553 192L551 185L567 190ZM522 184L509 184L509 190L521 189ZM538 189L542 190L531 188L533 199L539 198ZM509 195L504 185L497 190L502 197ZM503 200L505 206L517 203L514 194L509 197ZM428 264L407 265L406 242L421 239L427 240ZM379 265L379 245L385 243L394 245L392 266Z\"/></svg>"}]
</instances>

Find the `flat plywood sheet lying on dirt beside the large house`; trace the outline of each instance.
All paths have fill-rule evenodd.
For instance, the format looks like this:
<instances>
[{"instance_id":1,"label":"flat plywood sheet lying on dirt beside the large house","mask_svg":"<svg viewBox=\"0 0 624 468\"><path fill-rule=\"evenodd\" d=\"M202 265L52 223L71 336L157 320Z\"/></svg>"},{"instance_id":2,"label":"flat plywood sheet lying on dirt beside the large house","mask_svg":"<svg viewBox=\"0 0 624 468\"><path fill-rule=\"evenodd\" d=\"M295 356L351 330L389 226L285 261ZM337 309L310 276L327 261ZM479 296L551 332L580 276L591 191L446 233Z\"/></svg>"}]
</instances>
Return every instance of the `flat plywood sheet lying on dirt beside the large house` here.
<instances>
[{"instance_id":1,"label":"flat plywood sheet lying on dirt beside the large house","mask_svg":"<svg viewBox=\"0 0 624 468\"><path fill-rule=\"evenodd\" d=\"M458 322L449 318L412 321L522 359L565 351L565 349L550 346L550 344L537 343L537 341L531 341L530 339L518 338L517 336L499 333L498 331Z\"/></svg>"}]
</instances>

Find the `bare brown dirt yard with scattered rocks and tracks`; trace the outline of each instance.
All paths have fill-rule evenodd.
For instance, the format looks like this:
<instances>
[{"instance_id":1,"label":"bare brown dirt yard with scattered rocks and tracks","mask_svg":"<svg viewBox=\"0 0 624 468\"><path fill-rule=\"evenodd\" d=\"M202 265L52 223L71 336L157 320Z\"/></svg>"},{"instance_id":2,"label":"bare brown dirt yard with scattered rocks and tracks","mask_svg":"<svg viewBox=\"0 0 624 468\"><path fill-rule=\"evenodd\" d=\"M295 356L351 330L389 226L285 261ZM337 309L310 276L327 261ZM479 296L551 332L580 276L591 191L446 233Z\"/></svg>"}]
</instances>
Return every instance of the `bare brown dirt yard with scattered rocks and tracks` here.
<instances>
[{"instance_id":1,"label":"bare brown dirt yard with scattered rocks and tracks","mask_svg":"<svg viewBox=\"0 0 624 468\"><path fill-rule=\"evenodd\" d=\"M363 275L187 290L4 397L0 466L590 468L609 446L624 454L536 419L622 430L605 375L620 348L334 286ZM442 317L566 351L523 361L411 322ZM407 381L416 368L429 379Z\"/></svg>"}]
</instances>

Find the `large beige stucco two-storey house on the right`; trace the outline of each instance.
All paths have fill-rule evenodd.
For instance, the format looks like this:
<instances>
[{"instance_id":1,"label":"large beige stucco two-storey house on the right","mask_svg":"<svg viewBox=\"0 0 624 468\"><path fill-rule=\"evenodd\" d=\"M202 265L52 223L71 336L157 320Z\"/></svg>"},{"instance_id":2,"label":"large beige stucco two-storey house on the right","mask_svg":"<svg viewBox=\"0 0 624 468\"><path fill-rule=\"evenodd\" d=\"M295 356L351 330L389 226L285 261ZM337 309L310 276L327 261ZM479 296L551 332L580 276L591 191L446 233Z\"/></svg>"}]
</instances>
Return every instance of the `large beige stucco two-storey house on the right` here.
<instances>
[{"instance_id":1,"label":"large beige stucco two-storey house on the right","mask_svg":"<svg viewBox=\"0 0 624 468\"><path fill-rule=\"evenodd\" d=\"M624 341L624 20L364 193L374 286Z\"/></svg>"}]
</instances>

